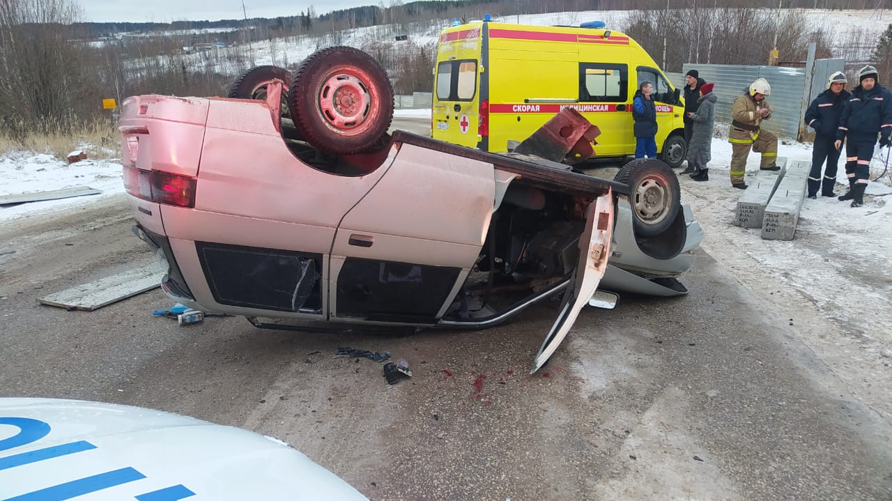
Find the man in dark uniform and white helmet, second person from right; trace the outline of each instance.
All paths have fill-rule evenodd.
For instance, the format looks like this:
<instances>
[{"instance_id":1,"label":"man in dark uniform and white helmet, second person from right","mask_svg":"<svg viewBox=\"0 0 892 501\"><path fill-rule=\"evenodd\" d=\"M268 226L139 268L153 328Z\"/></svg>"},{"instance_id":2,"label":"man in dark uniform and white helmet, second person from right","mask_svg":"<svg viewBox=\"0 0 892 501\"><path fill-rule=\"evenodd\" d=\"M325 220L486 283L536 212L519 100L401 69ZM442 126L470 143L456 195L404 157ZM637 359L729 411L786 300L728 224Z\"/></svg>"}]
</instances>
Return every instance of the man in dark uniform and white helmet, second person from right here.
<instances>
[{"instance_id":1,"label":"man in dark uniform and white helmet, second person from right","mask_svg":"<svg viewBox=\"0 0 892 501\"><path fill-rule=\"evenodd\" d=\"M833 186L836 185L839 150L834 142L839 127L839 117L842 116L843 107L851 97L846 90L847 83L846 75L842 71L830 75L827 79L827 90L818 94L805 111L805 124L814 128L812 171L808 173L808 198L818 198L818 188L821 188L822 196L836 196L836 193L833 193ZM824 169L822 180L821 168L825 159L827 168Z\"/></svg>"}]
</instances>

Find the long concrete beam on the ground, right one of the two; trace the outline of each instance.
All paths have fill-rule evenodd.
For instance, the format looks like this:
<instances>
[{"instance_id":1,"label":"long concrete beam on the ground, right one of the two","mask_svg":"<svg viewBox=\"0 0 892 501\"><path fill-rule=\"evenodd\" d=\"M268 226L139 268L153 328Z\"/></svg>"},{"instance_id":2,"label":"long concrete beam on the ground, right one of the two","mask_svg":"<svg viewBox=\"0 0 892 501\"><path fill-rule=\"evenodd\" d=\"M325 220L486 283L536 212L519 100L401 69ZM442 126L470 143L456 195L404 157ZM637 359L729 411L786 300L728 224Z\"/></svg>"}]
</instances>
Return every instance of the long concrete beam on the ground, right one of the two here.
<instances>
[{"instance_id":1,"label":"long concrete beam on the ground, right one of the two","mask_svg":"<svg viewBox=\"0 0 892 501\"><path fill-rule=\"evenodd\" d=\"M762 223L762 238L765 240L793 240L799 221L799 209L805 198L805 181L812 163L797 160L787 167L780 179L772 200L765 207Z\"/></svg>"}]
</instances>

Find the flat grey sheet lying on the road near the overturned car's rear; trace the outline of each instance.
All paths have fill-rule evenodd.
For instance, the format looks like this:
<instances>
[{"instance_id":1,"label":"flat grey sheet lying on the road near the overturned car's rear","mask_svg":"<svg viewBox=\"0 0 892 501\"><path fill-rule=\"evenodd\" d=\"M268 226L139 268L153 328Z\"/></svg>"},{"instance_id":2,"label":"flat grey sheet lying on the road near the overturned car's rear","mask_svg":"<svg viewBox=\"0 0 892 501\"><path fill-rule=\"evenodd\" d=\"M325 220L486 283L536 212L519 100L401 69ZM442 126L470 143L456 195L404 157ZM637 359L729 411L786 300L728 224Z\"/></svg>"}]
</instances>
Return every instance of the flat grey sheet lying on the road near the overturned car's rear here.
<instances>
[{"instance_id":1,"label":"flat grey sheet lying on the road near the overturned car's rear","mask_svg":"<svg viewBox=\"0 0 892 501\"><path fill-rule=\"evenodd\" d=\"M156 263L107 276L91 283L85 283L50 294L37 302L59 308L93 311L113 302L126 300L136 294L151 291L161 285L164 273Z\"/></svg>"}]
</instances>

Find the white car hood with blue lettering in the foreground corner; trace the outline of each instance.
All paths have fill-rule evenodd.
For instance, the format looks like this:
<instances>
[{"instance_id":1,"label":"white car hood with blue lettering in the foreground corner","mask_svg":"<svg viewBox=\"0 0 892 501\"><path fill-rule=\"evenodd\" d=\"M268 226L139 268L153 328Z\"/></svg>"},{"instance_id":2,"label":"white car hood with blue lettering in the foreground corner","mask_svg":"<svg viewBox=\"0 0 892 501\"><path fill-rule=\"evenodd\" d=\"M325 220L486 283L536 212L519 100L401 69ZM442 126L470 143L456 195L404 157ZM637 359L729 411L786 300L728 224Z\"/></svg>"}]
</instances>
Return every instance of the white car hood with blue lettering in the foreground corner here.
<instances>
[{"instance_id":1,"label":"white car hood with blue lettering in the foreground corner","mask_svg":"<svg viewBox=\"0 0 892 501\"><path fill-rule=\"evenodd\" d=\"M365 500L277 439L151 409L0 398L0 499ZM30 495L27 496L26 495Z\"/></svg>"}]
</instances>

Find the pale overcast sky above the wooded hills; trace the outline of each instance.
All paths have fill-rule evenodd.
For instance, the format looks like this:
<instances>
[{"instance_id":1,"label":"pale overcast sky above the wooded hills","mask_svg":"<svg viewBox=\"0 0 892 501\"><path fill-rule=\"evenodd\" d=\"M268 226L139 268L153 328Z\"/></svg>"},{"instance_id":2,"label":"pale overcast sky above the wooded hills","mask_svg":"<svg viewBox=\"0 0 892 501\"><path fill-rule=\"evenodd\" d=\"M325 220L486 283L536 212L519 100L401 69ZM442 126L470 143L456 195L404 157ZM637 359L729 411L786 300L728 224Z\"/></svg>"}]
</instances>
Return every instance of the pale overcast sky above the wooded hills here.
<instances>
[{"instance_id":1,"label":"pale overcast sky above the wooded hills","mask_svg":"<svg viewBox=\"0 0 892 501\"><path fill-rule=\"evenodd\" d=\"M242 0L74 0L87 22L170 22L242 19ZM300 14L310 5L317 14L379 4L380 0L244 0L248 17L274 18ZM384 4L390 4L385 1Z\"/></svg>"}]
</instances>

